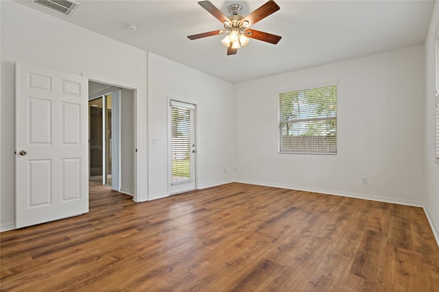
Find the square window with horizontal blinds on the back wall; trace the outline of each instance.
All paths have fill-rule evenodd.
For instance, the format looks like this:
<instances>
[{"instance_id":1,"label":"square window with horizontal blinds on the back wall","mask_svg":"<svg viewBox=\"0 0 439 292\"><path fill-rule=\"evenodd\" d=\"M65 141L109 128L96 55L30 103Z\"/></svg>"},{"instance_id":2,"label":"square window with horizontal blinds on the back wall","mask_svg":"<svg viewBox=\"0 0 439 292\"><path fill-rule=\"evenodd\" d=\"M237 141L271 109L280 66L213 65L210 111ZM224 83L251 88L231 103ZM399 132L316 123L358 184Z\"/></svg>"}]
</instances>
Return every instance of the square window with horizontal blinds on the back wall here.
<instances>
[{"instance_id":1,"label":"square window with horizontal blinds on the back wall","mask_svg":"<svg viewBox=\"0 0 439 292\"><path fill-rule=\"evenodd\" d=\"M278 152L337 154L337 84L278 93Z\"/></svg>"}]
</instances>

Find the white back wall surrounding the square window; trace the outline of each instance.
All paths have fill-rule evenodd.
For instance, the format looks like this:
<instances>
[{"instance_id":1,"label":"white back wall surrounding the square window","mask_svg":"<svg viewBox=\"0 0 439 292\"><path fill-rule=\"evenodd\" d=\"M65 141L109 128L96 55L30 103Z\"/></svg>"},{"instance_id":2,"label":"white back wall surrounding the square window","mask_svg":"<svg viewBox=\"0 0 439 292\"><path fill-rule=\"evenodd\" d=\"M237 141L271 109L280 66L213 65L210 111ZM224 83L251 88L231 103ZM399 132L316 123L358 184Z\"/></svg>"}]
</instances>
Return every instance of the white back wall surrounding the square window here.
<instances>
[{"instance_id":1,"label":"white back wall surrounding the square window","mask_svg":"<svg viewBox=\"0 0 439 292\"><path fill-rule=\"evenodd\" d=\"M278 154L276 90L334 81L338 154ZM423 206L423 95L423 46L237 84L236 180Z\"/></svg>"}]
</instances>

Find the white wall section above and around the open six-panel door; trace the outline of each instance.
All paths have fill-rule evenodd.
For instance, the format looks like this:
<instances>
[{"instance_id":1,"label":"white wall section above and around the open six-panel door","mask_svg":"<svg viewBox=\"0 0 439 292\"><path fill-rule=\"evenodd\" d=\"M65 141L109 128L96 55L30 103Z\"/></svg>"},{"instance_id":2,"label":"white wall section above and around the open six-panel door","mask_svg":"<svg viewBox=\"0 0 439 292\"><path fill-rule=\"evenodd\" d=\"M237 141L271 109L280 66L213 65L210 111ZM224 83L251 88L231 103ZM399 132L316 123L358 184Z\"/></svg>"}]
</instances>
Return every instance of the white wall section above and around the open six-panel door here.
<instances>
[{"instance_id":1,"label":"white wall section above and around the open six-panel door","mask_svg":"<svg viewBox=\"0 0 439 292\"><path fill-rule=\"evenodd\" d=\"M14 226L16 60L137 88L137 171L147 178L147 53L13 1L0 1L0 5L1 229ZM146 180L139 180L137 195L140 200L147 197Z\"/></svg>"}]
</instances>

